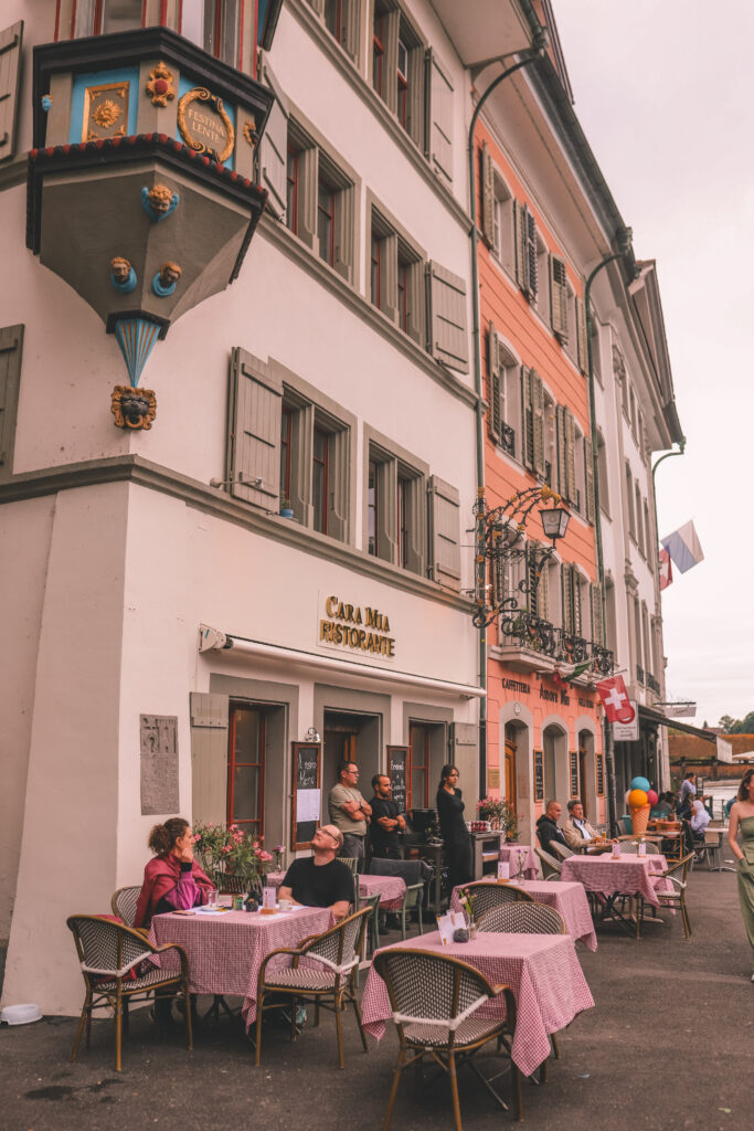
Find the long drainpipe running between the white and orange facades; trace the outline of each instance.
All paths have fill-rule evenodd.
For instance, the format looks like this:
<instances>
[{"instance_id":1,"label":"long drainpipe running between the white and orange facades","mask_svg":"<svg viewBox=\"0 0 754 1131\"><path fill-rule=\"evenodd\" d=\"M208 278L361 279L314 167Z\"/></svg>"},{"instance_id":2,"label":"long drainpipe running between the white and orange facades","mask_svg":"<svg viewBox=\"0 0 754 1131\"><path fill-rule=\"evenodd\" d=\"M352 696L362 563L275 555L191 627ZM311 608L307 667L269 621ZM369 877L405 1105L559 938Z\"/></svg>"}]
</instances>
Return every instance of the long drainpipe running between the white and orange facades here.
<instances>
[{"instance_id":1,"label":"long drainpipe running between the white and orange facades","mask_svg":"<svg viewBox=\"0 0 754 1131\"><path fill-rule=\"evenodd\" d=\"M484 94L479 97L476 106L474 107L474 113L471 114L471 123L469 126L469 193L470 193L470 206L469 206L469 217L471 219L471 227L469 230L469 238L471 240L471 321L474 327L474 388L476 392L476 456L477 456L477 495L482 498L484 495L484 412L483 412L483 390L482 390L482 340L479 333L479 260L477 252L477 240L479 233L477 231L477 196L476 196L476 153L474 149L474 131L476 129L477 119L485 102L493 93L496 90L501 83L511 75L514 75L517 70L521 70L522 67L528 67L529 63L536 62L545 54L546 35L544 28L538 28L535 32L531 40L531 48L527 49L526 53L520 52L523 58L519 59L517 63L506 68L502 75L499 75L494 79ZM511 54L519 54L519 52L511 52ZM482 627L479 629L479 687L487 688L487 637L486 629ZM479 796L485 797L487 795L487 699L486 696L479 700Z\"/></svg>"}]
</instances>

